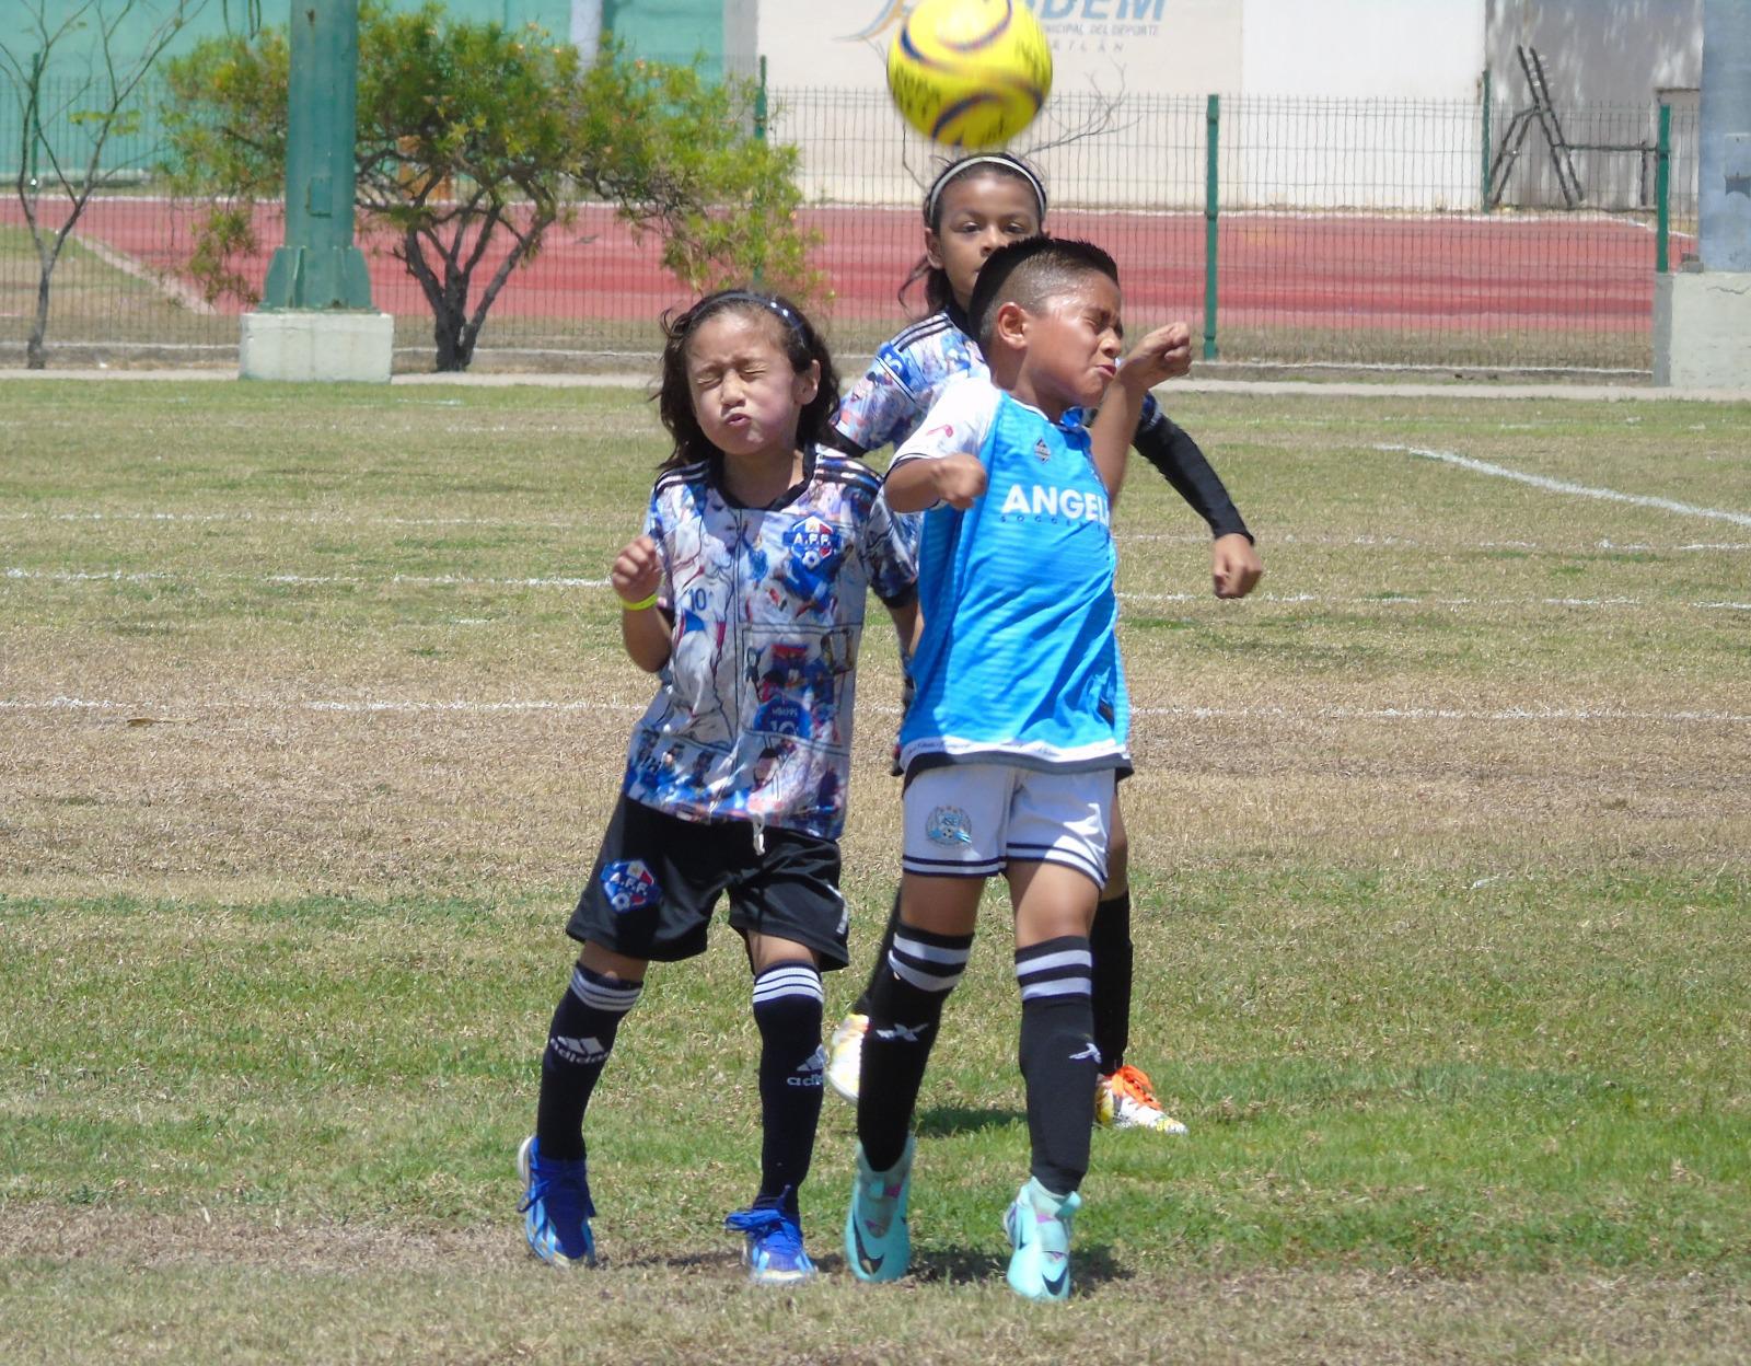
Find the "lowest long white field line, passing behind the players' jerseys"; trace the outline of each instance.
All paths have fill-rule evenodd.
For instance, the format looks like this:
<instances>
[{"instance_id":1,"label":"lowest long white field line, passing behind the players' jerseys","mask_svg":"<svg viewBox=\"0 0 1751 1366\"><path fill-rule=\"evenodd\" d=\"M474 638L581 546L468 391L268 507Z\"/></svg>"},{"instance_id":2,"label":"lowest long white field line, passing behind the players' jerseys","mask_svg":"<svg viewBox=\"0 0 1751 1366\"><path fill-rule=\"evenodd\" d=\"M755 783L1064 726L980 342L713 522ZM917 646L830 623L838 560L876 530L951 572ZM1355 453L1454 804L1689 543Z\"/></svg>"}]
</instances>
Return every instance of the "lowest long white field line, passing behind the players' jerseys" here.
<instances>
[{"instance_id":1,"label":"lowest long white field line, passing behind the players' jerseys","mask_svg":"<svg viewBox=\"0 0 1751 1366\"><path fill-rule=\"evenodd\" d=\"M583 702L583 701L545 701L545 699L508 699L501 702L455 701L417 701L417 699L308 699L301 702L212 702L203 704L214 711L313 711L326 715L517 715L517 713L573 713L573 711L611 711L623 715L643 713L644 702ZM893 704L868 706L879 716L898 716L900 708ZM0 699L0 711L126 711L130 716L151 718L152 711L163 711L151 702L117 702L93 697L47 697L42 701ZM187 708L179 708L186 713ZM1660 725L1751 725L1751 713L1737 711L1642 711L1628 708L1581 708L1581 706L1515 706L1485 711L1467 711L1460 708L1133 708L1133 716L1164 716L1192 722L1229 722L1229 720L1271 720L1271 722L1469 722L1469 723L1515 723L1527 722L1655 722ZM187 720L179 716L179 720Z\"/></svg>"}]
</instances>

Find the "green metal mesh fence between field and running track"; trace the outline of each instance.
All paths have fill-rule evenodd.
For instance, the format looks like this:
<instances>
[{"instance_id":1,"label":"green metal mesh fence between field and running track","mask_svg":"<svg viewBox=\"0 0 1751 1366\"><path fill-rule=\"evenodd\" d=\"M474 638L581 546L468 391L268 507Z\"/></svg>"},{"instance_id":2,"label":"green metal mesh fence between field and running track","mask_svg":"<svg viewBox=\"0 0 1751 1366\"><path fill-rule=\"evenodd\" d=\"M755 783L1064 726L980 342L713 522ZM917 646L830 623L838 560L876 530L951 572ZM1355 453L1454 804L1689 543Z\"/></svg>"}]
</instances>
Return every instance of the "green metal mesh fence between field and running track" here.
<instances>
[{"instance_id":1,"label":"green metal mesh fence between field and running track","mask_svg":"<svg viewBox=\"0 0 1751 1366\"><path fill-rule=\"evenodd\" d=\"M187 270L205 205L156 191L159 98L142 96L140 131L110 149L121 180L93 201L54 275L51 363L236 357L240 305L201 301ZM0 98L0 363L23 354L39 275L12 193L19 163L42 172L53 145L82 166L89 137L70 100L51 89L42 107L33 140L19 102ZM1506 145L1513 114L1429 100L1059 95L1017 151L1045 175L1052 231L1117 257L1133 326L1185 317L1206 357L1649 370L1663 226L1672 268L1691 249L1695 109L1667 112L1663 147L1655 105L1558 110L1567 173L1539 128ZM867 356L907 317L897 289L921 252L918 205L937 151L870 93L772 91L769 137L802 151L833 343ZM1576 186L1579 196L1565 194ZM1660 186L1670 186L1665 212ZM47 182L39 194L56 226L65 201ZM425 301L389 242L361 231L375 303L397 320L397 364L427 368ZM257 233L280 240L277 212L263 210ZM264 268L266 256L245 275L259 285ZM678 303L657 243L580 205L501 294L478 363L641 364Z\"/></svg>"}]
</instances>

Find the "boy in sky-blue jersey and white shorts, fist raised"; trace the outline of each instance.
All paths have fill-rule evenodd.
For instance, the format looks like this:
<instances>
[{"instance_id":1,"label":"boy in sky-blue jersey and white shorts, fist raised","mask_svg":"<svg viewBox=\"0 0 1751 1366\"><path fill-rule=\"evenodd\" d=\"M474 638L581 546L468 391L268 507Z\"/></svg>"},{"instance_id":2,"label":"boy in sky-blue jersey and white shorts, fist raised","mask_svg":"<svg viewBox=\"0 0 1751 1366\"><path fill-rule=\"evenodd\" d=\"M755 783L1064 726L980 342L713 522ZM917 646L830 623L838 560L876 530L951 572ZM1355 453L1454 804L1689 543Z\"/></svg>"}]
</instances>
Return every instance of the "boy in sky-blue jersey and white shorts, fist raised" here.
<instances>
[{"instance_id":1,"label":"boy in sky-blue jersey and white shorts, fist raised","mask_svg":"<svg viewBox=\"0 0 1751 1366\"><path fill-rule=\"evenodd\" d=\"M1119 370L1119 273L1098 247L1028 238L974 285L989 377L951 384L895 454L890 506L930 510L919 548L918 695L905 767L900 923L870 1002L846 1261L907 1270L912 1112L984 881L1016 909L1021 1072L1031 1175L1005 1215L1010 1287L1070 1294L1070 1226L1087 1172L1100 1049L1089 925L1107 881L1115 781L1129 771L1110 506L1149 387L1184 361L1184 327ZM1091 436L1080 412L1114 375Z\"/></svg>"}]
</instances>

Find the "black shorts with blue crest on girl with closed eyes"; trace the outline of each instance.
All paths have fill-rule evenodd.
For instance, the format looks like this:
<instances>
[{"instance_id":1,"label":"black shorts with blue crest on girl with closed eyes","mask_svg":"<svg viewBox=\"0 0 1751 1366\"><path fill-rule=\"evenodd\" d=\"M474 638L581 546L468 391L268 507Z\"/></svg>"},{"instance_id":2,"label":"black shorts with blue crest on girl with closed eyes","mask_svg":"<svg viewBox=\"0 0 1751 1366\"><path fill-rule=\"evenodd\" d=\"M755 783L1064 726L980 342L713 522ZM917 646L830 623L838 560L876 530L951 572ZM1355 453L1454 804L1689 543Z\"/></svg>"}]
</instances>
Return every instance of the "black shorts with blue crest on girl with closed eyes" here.
<instances>
[{"instance_id":1,"label":"black shorts with blue crest on girl with closed eyes","mask_svg":"<svg viewBox=\"0 0 1751 1366\"><path fill-rule=\"evenodd\" d=\"M821 968L849 961L839 844L749 821L683 821L625 795L602 835L590 881L566 933L629 958L674 963L706 951L718 897L730 893L730 928L791 939Z\"/></svg>"}]
</instances>

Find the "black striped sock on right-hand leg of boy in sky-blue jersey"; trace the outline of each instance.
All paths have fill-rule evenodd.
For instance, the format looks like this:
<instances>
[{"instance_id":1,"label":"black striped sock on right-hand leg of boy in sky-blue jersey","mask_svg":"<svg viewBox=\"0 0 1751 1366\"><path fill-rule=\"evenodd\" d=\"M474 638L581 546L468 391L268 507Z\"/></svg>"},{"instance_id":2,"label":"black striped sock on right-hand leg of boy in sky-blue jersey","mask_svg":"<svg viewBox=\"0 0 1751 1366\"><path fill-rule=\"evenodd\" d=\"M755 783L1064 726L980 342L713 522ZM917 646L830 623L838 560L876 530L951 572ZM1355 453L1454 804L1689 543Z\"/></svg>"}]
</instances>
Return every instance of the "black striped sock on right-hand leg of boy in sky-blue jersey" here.
<instances>
[{"instance_id":1,"label":"black striped sock on right-hand leg of boy in sky-blue jersey","mask_svg":"<svg viewBox=\"0 0 1751 1366\"><path fill-rule=\"evenodd\" d=\"M1089 1009L1089 942L1047 939L1016 951L1021 984L1021 1075L1028 1084L1031 1172L1052 1194L1070 1194L1089 1170L1100 1049Z\"/></svg>"}]
</instances>

